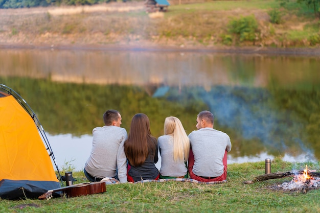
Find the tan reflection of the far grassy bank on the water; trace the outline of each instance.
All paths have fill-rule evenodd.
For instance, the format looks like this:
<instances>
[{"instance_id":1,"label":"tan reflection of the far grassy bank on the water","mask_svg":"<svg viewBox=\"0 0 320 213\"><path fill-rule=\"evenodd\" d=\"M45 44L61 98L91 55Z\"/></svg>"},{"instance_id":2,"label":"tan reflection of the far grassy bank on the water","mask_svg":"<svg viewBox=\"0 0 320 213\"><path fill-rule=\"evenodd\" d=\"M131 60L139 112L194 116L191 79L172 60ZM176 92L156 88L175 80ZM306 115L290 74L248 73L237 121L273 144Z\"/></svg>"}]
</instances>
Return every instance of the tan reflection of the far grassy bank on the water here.
<instances>
[{"instance_id":1,"label":"tan reflection of the far grassy bank on the water","mask_svg":"<svg viewBox=\"0 0 320 213\"><path fill-rule=\"evenodd\" d=\"M239 54L0 50L1 76L120 84L266 87L318 83L320 59ZM312 86L312 85L310 85Z\"/></svg>"}]
</instances>

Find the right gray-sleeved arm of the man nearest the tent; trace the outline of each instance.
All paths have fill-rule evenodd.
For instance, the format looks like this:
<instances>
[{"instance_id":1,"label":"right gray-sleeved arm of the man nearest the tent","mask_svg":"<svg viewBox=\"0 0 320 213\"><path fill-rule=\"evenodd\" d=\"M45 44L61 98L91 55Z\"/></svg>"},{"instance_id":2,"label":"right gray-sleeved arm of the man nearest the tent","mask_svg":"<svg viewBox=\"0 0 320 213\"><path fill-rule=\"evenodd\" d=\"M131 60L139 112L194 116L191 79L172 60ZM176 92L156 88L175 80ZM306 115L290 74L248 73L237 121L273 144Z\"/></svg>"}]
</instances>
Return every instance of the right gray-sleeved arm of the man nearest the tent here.
<instances>
[{"instance_id":1,"label":"right gray-sleeved arm of the man nearest the tent","mask_svg":"<svg viewBox=\"0 0 320 213\"><path fill-rule=\"evenodd\" d=\"M127 182L127 157L124 152L124 142L127 140L127 132L123 135L122 141L117 153L118 178L121 183Z\"/></svg>"}]
</instances>

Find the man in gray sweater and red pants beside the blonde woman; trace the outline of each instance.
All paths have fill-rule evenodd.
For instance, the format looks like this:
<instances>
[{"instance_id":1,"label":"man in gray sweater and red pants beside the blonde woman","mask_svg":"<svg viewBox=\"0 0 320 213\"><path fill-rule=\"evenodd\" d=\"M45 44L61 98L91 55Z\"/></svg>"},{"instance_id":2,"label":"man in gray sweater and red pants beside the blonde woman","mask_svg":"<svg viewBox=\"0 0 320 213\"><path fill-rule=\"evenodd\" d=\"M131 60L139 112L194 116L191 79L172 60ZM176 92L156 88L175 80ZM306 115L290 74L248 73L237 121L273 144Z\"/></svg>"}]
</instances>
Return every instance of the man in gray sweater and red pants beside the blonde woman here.
<instances>
[{"instance_id":1,"label":"man in gray sweater and red pants beside the blonde woman","mask_svg":"<svg viewBox=\"0 0 320 213\"><path fill-rule=\"evenodd\" d=\"M202 111L197 116L197 130L189 134L188 171L192 179L203 182L226 180L226 153L231 151L231 141L226 133L213 126L213 114Z\"/></svg>"}]
</instances>

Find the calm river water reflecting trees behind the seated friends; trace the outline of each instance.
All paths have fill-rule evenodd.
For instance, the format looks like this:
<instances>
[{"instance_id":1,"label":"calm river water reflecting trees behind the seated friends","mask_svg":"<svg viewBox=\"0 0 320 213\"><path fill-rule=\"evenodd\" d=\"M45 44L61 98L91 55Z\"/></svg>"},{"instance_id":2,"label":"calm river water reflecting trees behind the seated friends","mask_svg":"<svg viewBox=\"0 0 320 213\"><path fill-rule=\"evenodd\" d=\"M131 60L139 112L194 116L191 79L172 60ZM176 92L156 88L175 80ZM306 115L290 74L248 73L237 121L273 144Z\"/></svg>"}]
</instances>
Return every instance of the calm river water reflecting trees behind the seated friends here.
<instances>
[{"instance_id":1,"label":"calm river water reflecting trees behind the seated friends","mask_svg":"<svg viewBox=\"0 0 320 213\"><path fill-rule=\"evenodd\" d=\"M189 134L211 110L231 137L228 163L304 162L320 159L319 65L320 56L0 49L0 83L37 113L59 167L82 170L110 108L127 131L146 113L156 137L167 116Z\"/></svg>"}]
</instances>

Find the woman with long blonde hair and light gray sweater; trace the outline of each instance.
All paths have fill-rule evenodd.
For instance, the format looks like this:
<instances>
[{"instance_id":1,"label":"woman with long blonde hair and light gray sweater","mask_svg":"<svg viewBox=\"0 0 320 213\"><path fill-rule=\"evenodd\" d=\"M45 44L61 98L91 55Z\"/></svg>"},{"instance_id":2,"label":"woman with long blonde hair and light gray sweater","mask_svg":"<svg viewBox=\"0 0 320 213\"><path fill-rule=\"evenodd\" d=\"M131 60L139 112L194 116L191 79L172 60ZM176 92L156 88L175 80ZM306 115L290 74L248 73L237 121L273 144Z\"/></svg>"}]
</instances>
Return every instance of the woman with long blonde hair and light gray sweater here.
<instances>
[{"instance_id":1,"label":"woman with long blonde hair and light gray sweater","mask_svg":"<svg viewBox=\"0 0 320 213\"><path fill-rule=\"evenodd\" d=\"M177 117L167 117L164 130L165 135L158 137L160 178L188 178L189 137Z\"/></svg>"}]
</instances>

